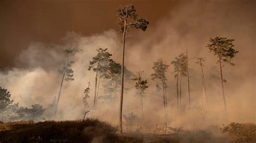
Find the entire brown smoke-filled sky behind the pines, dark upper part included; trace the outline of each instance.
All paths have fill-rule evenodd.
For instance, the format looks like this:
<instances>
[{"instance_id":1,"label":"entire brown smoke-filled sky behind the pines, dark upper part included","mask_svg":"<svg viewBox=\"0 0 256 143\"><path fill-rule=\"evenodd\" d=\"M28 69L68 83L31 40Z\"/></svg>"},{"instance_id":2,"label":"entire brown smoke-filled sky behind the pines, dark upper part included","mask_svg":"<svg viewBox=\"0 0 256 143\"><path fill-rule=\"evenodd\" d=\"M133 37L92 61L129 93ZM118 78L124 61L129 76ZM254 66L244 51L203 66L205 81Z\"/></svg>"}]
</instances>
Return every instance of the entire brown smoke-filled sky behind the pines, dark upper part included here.
<instances>
[{"instance_id":1,"label":"entire brown smoke-filled sky behind the pines, dark upper part included","mask_svg":"<svg viewBox=\"0 0 256 143\"><path fill-rule=\"evenodd\" d=\"M149 20L147 30L132 30L126 40L125 66L131 71L144 70L149 81L145 106L150 111L163 110L161 96L156 91L157 81L150 80L152 63L159 58L170 65L180 53L188 51L191 104L200 104L201 74L194 56L206 58L204 73L207 91L213 101L212 121L222 111L219 80L211 81L210 73L218 74L217 57L209 53L209 38L235 39L234 48L239 51L232 59L235 66L225 65L224 77L227 107L231 119L255 122L255 2L236 0L207 1L1 1L0 5L0 85L10 90L15 102L22 106L40 103L47 106L59 90L60 75L56 72L63 60L62 50L70 45L82 48L73 57L75 81L65 82L60 108L65 109L67 119L76 119L82 113L83 91L95 73L87 71L89 61L96 54L97 46L108 48L113 60L121 62L122 35L118 32L116 9L119 5L133 4L138 15ZM214 70L213 70L214 69ZM216 70L216 71L215 71ZM176 79L173 66L166 73L168 78L167 100L175 106ZM210 83L213 83L211 93ZM183 104L186 105L186 81L183 85ZM124 95L124 113L137 111L134 87ZM103 83L100 87L103 87ZM91 90L91 93L94 89ZM103 88L99 93L103 94ZM211 93L211 94L210 94ZM92 96L92 95L91 95ZM154 103L151 104L151 97ZM215 99L215 100L214 100ZM92 98L89 99L90 105ZM99 99L100 101L100 99ZM117 103L117 104L116 104ZM118 115L118 102L111 107ZM66 105L70 106L66 106ZM102 113L109 114L110 105L102 104ZM112 105L111 105L112 106ZM152 110L150 110L152 108ZM68 112L70 111L70 112ZM107 112L106 112L107 111ZM76 116L74 113L76 112ZM104 115L101 115L104 117ZM157 116L158 117L158 116ZM184 118L188 119L187 117ZM117 118L114 118L117 123ZM156 118L158 120L158 118ZM200 122L200 120L198 120ZM114 121L113 121L114 122ZM207 121L208 123L208 121Z\"/></svg>"}]
</instances>

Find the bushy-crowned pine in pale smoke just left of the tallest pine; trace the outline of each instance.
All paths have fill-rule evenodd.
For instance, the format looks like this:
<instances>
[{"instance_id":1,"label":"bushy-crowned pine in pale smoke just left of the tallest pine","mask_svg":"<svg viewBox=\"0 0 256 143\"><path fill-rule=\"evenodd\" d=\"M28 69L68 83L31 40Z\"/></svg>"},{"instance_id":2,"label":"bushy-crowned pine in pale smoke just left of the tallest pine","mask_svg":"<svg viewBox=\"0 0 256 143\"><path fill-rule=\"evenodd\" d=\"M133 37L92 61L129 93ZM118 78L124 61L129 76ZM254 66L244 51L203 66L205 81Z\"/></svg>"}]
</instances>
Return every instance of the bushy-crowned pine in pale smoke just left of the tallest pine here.
<instances>
[{"instance_id":1,"label":"bushy-crowned pine in pale smoke just left of the tallest pine","mask_svg":"<svg viewBox=\"0 0 256 143\"><path fill-rule=\"evenodd\" d=\"M88 70L93 70L96 72L96 77L95 77L95 94L93 98L93 110L96 109L97 106L97 84L98 84L98 78L99 78L99 73L105 73L108 68L108 64L111 61L110 57L112 54L107 52L107 48L98 48L97 50L97 55L92 58L92 61L90 61L89 68Z\"/></svg>"}]
</instances>

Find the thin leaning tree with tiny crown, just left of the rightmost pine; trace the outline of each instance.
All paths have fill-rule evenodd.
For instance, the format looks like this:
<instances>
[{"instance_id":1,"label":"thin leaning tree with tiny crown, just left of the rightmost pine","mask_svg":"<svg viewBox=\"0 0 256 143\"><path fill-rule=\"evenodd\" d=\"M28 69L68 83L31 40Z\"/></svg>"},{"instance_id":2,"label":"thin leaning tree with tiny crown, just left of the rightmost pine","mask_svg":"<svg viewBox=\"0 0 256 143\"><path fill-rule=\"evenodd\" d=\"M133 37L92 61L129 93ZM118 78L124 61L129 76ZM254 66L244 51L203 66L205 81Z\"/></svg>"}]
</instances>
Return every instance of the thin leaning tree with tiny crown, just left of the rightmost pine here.
<instances>
[{"instance_id":1,"label":"thin leaning tree with tiny crown, just left of the rightmost pine","mask_svg":"<svg viewBox=\"0 0 256 143\"><path fill-rule=\"evenodd\" d=\"M205 78L204 78L204 71L203 71L203 62L205 59L203 58L197 58L197 64L200 65L201 68L201 76L202 76L202 83L203 83L203 95L204 95L204 106L208 109L208 97L207 97L207 92L206 92L206 86L205 86Z\"/></svg>"}]
</instances>

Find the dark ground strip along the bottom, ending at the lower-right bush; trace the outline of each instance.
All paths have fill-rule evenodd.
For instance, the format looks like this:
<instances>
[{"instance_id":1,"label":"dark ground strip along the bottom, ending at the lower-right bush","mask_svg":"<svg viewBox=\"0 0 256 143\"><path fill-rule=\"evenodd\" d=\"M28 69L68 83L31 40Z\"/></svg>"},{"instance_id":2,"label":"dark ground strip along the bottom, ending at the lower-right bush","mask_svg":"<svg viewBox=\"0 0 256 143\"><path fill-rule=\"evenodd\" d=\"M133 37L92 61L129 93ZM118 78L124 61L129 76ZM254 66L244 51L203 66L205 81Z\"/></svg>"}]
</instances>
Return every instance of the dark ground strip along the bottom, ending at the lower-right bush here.
<instances>
[{"instance_id":1,"label":"dark ground strip along the bottom, ending at the lower-right bush","mask_svg":"<svg viewBox=\"0 0 256 143\"><path fill-rule=\"evenodd\" d=\"M104 121L86 119L0 123L0 142L228 142L228 138L205 130L119 134L117 128Z\"/></svg>"}]
</instances>

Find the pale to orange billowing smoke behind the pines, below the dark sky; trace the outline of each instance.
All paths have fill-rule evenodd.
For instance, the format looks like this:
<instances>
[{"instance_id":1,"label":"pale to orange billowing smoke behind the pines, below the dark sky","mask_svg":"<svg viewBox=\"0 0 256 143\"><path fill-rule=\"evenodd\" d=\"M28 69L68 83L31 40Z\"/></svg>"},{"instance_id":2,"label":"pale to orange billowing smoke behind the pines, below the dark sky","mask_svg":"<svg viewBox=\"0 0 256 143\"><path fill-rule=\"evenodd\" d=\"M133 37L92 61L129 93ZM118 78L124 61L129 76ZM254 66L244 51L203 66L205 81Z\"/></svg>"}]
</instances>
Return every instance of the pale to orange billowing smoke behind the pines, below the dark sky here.
<instances>
[{"instance_id":1,"label":"pale to orange billowing smoke behind the pines, below the dark sky","mask_svg":"<svg viewBox=\"0 0 256 143\"><path fill-rule=\"evenodd\" d=\"M143 77L149 81L149 89L144 98L145 123L162 124L164 108L161 92L156 91L156 81L152 81L152 63L163 58L167 64L182 52L188 51L191 85L191 104L198 106L203 103L203 91L200 77L200 67L194 57L200 56L205 61L205 76L210 110L206 117L198 112L178 115L176 113L176 79L173 66L167 72L167 101L169 122L173 126L199 127L204 125L220 125L223 123L224 107L221 101L220 81L212 79L210 89L210 71L219 74L217 58L208 53L205 46L209 38L227 37L235 39L235 49L239 51L234 57L235 66L225 65L224 78L228 119L230 121L255 123L255 13L254 6L245 1L184 1L171 11L170 16L161 19L156 27L149 25L146 32L133 31L127 38L125 66L131 71L142 71ZM95 84L95 73L88 71L89 61L96 55L98 46L108 48L112 58L120 63L122 52L121 36L117 31L105 32L84 37L74 32L68 32L62 39L62 45L42 44L34 42L17 57L17 65L26 64L26 68L13 68L0 73L0 85L8 88L11 97L20 105L30 106L34 103L46 107L57 95L61 75L57 68L64 56L63 49L74 46L83 49L72 57L75 81L64 82L60 97L59 109L62 109L62 119L80 119L83 117L83 91L91 82L89 104L92 106ZM215 70L212 69L215 67ZM134 96L132 81L127 82L130 90L124 94L124 114L134 112L140 116L139 98ZM102 87L99 94L102 93ZM182 104L188 103L187 82L183 77ZM119 95L119 94L118 94ZM100 102L100 100L99 100ZM117 125L119 113L119 98L113 105L98 106L97 117ZM199 118L200 116L200 118Z\"/></svg>"}]
</instances>

